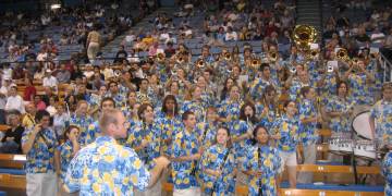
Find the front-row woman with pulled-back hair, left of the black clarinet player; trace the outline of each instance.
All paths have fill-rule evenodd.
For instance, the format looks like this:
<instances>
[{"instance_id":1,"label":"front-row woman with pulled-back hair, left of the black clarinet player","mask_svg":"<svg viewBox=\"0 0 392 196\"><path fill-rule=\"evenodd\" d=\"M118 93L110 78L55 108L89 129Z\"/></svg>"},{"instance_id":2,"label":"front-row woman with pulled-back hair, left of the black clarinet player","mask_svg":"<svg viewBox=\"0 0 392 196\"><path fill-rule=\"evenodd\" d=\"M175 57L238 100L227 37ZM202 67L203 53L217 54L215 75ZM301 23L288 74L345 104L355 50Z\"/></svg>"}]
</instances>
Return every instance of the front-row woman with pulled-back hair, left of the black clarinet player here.
<instances>
[{"instance_id":1,"label":"front-row woman with pulled-back hair, left of the black clarinet player","mask_svg":"<svg viewBox=\"0 0 392 196\"><path fill-rule=\"evenodd\" d=\"M219 127L215 137L215 145L200 159L204 194L234 195L235 160L229 128Z\"/></svg>"}]
</instances>

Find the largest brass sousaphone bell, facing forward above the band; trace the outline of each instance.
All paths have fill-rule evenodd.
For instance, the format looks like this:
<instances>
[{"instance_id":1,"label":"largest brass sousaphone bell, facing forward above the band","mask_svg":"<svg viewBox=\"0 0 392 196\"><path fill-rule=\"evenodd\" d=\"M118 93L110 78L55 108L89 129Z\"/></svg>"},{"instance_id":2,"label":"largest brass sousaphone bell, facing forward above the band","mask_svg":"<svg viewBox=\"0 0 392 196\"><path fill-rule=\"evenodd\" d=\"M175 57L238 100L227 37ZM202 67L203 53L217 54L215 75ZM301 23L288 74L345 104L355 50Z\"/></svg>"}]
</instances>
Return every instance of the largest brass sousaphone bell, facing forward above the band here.
<instances>
[{"instance_id":1,"label":"largest brass sousaphone bell, facing forward above the band","mask_svg":"<svg viewBox=\"0 0 392 196\"><path fill-rule=\"evenodd\" d=\"M293 32L293 39L301 51L309 51L310 44L317 40L317 30L309 25L296 25Z\"/></svg>"}]
</instances>

